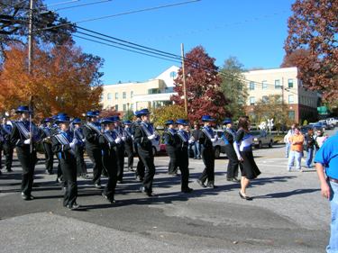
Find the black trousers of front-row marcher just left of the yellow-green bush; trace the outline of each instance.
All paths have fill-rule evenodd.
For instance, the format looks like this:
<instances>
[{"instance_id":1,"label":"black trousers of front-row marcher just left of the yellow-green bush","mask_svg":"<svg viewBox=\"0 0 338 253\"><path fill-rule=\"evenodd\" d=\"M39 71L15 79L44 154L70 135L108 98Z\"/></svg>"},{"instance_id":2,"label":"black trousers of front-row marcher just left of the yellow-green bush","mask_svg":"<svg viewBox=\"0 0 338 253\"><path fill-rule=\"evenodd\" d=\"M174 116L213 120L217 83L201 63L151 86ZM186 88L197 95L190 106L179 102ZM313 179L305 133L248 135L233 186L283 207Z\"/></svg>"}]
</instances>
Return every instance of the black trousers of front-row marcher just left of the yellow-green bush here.
<instances>
[{"instance_id":1,"label":"black trousers of front-row marcher just left of the yellow-green bush","mask_svg":"<svg viewBox=\"0 0 338 253\"><path fill-rule=\"evenodd\" d=\"M142 163L145 167L143 187L146 192L152 192L152 182L155 176L154 156L152 150L142 149L138 147L139 157L142 159Z\"/></svg>"}]
</instances>

